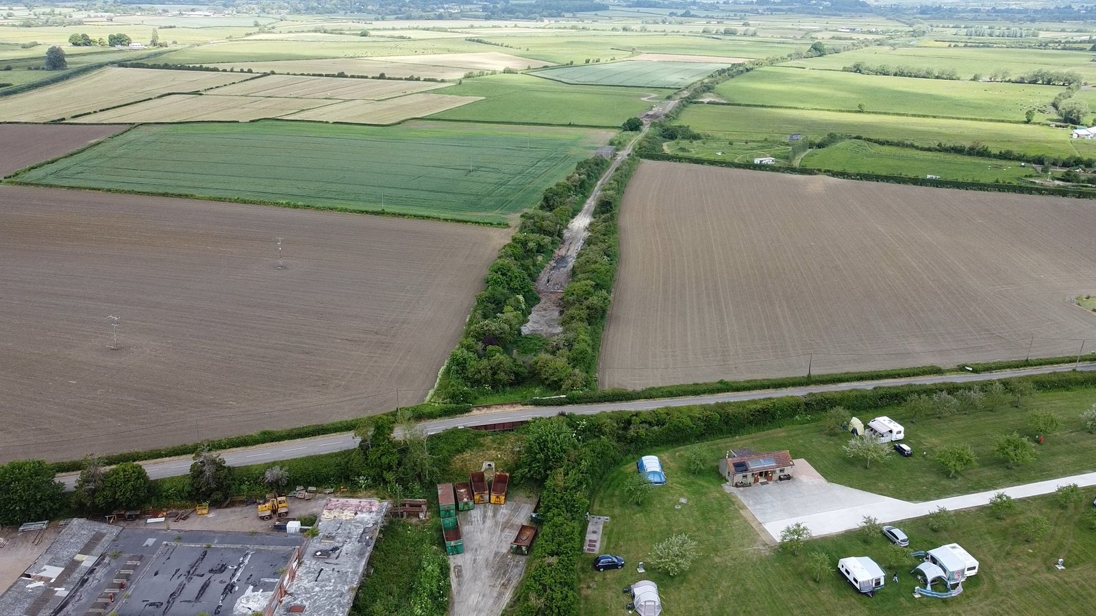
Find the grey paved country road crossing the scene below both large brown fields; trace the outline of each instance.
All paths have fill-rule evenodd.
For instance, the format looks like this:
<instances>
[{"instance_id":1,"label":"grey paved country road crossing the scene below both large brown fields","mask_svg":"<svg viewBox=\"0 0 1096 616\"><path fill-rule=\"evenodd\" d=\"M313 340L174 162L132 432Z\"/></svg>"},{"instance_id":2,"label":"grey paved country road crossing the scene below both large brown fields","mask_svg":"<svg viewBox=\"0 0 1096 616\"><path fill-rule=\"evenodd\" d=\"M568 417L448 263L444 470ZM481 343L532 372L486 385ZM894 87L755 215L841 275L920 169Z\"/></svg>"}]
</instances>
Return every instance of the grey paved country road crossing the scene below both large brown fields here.
<instances>
[{"instance_id":1,"label":"grey paved country road crossing the scene below both large brown fields","mask_svg":"<svg viewBox=\"0 0 1096 616\"><path fill-rule=\"evenodd\" d=\"M1024 368L1016 370L1003 370L983 374L949 374L935 375L914 378L889 378L878 380L860 380L854 383L840 383L833 385L808 385L803 387L788 387L785 389L763 389L755 391L738 391L733 393L711 393L708 396L688 396L685 398L662 398L657 400L635 400L629 402L600 402L596 404L568 404L566 407L514 407L507 406L499 409L490 407L472 411L469 414L446 418L422 423L422 427L427 434L436 434L454 427L471 427L476 425L488 425L509 421L527 421L534 418L545 418L560 412L574 414L595 414L607 411L648 411L664 407L684 407L688 404L711 404L713 402L735 402L741 400L760 400L764 398L778 398L780 396L806 396L807 393L820 393L823 391L845 391L849 389L872 389L876 387L892 387L898 385L932 385L935 383L972 383L980 380L991 380L995 378L1009 378L1016 376L1029 376L1037 374L1061 373L1074 369L1073 365L1065 366L1043 366L1038 368ZM1096 363L1085 363L1076 366L1078 370L1096 370ZM400 436L399 429L396 436ZM311 438L299 438L296 441L282 441L266 445L255 445L253 447L241 447L239 449L227 449L221 452L225 461L229 466L248 466L252 464L270 464L290 458L302 458L317 454L328 454L352 449L357 446L357 437L353 433L343 432L328 434L324 436L313 436ZM151 479L162 479L164 477L175 477L186 475L190 471L190 456L175 458L161 458L140 463L148 471ZM66 472L57 476L57 480L65 483L66 489L72 489L79 474Z\"/></svg>"}]
</instances>

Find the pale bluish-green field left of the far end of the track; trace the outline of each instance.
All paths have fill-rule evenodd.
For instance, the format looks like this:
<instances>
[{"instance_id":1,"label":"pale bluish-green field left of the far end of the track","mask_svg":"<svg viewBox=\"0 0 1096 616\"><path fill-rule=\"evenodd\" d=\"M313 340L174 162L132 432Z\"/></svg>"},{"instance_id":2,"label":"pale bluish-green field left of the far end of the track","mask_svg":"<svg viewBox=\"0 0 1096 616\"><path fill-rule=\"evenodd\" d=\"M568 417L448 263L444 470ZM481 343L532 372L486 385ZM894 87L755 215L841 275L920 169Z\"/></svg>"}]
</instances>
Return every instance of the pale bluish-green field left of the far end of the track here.
<instances>
[{"instance_id":1,"label":"pale bluish-green field left of the far end of the track","mask_svg":"<svg viewBox=\"0 0 1096 616\"><path fill-rule=\"evenodd\" d=\"M537 77L584 85L684 88L727 65L708 62L600 62L539 70Z\"/></svg>"}]
</instances>

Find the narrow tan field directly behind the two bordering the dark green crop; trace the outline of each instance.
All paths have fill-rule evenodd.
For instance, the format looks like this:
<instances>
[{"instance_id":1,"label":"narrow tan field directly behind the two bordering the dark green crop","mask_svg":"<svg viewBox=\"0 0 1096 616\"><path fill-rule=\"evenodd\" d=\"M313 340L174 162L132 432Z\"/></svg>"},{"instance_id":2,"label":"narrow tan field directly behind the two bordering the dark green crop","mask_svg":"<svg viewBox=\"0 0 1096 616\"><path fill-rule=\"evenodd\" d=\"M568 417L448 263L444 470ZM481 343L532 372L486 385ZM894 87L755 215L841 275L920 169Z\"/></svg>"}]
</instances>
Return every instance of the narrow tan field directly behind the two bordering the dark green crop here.
<instances>
[{"instance_id":1,"label":"narrow tan field directly behind the two bordering the dark green crop","mask_svg":"<svg viewBox=\"0 0 1096 616\"><path fill-rule=\"evenodd\" d=\"M414 92L445 88L433 81L400 81L392 79L343 79L335 77L301 77L298 75L265 75L241 83L210 90L210 94L238 96L289 96L301 99L366 99L379 101Z\"/></svg>"}]
</instances>

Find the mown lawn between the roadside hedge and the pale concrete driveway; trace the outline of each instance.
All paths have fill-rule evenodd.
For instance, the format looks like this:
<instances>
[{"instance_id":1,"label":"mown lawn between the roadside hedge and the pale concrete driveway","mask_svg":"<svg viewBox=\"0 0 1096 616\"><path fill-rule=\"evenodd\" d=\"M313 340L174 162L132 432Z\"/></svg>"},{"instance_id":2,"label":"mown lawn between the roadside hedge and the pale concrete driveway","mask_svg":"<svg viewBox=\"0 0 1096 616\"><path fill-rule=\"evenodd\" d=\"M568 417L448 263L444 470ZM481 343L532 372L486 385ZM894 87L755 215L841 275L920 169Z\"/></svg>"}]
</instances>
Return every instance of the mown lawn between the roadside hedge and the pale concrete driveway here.
<instances>
[{"instance_id":1,"label":"mown lawn between the roadside hedge and the pale concrete driveway","mask_svg":"<svg viewBox=\"0 0 1096 616\"><path fill-rule=\"evenodd\" d=\"M975 411L943 419L927 417L916 422L894 407L861 413L858 417L865 423L879 415L902 423L905 426L902 442L914 450L913 457L893 455L882 464L872 464L870 469L865 468L864 461L845 456L842 446L847 438L844 435L826 436L819 423L713 441L703 447L716 459L735 447L755 452L788 449L794 458L806 458L829 481L915 502L1096 470L1096 435L1084 430L1078 418L1081 411L1096 402L1096 390L1039 393L1025 401L1020 409L1012 402L997 411ZM1034 438L1036 434L1028 424L1031 409L1053 412L1062 427L1046 435L1043 444L1038 445L1034 463L1009 469L993 453L993 441L1013 431ZM978 466L948 479L932 456L937 447L952 444L971 445Z\"/></svg>"}]
</instances>

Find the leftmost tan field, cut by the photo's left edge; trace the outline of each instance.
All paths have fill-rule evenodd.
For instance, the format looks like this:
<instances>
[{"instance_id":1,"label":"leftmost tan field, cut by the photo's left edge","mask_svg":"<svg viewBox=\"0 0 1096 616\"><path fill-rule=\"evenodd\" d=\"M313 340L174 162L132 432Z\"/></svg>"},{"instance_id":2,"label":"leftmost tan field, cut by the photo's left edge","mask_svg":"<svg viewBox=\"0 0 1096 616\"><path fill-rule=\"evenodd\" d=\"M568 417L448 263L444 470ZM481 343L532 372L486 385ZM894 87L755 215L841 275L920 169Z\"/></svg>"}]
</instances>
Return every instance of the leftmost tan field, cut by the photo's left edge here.
<instances>
[{"instance_id":1,"label":"leftmost tan field, cut by the photo's left edge","mask_svg":"<svg viewBox=\"0 0 1096 616\"><path fill-rule=\"evenodd\" d=\"M198 92L249 77L253 76L109 67L60 83L0 98L0 121L48 122L171 92Z\"/></svg>"}]
</instances>

